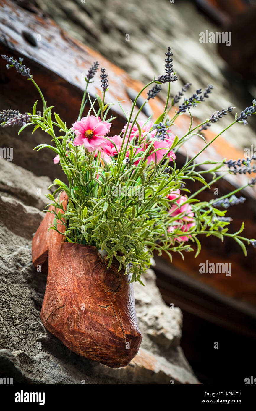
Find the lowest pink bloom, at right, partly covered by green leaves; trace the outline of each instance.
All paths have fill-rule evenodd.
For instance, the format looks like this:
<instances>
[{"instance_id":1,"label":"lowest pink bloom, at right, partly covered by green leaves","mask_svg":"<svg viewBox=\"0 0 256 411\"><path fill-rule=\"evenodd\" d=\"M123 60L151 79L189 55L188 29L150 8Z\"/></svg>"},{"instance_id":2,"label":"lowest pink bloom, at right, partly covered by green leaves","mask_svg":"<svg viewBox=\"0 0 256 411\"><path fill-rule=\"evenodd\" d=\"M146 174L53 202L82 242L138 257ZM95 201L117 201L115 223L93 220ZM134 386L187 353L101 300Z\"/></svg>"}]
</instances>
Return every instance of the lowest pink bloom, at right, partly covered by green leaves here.
<instances>
[{"instance_id":1,"label":"lowest pink bloom, at right, partly covered by green leaves","mask_svg":"<svg viewBox=\"0 0 256 411\"><path fill-rule=\"evenodd\" d=\"M168 232L172 233L176 229L179 229L180 231L186 233L191 229L191 227L194 227L196 224L194 220L194 212L192 211L191 205L189 203L184 204L185 201L187 201L187 197L181 196L180 190L176 190L168 195L168 199L175 200L178 203L178 205L173 204L171 206L169 210L171 217L175 217L176 215L178 216L180 213L182 213L182 216L175 220L172 223L173 225L168 228ZM190 235L175 237L174 241L188 241L189 237Z\"/></svg>"}]
</instances>

